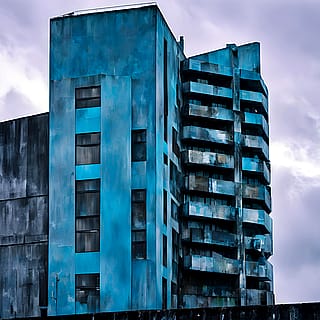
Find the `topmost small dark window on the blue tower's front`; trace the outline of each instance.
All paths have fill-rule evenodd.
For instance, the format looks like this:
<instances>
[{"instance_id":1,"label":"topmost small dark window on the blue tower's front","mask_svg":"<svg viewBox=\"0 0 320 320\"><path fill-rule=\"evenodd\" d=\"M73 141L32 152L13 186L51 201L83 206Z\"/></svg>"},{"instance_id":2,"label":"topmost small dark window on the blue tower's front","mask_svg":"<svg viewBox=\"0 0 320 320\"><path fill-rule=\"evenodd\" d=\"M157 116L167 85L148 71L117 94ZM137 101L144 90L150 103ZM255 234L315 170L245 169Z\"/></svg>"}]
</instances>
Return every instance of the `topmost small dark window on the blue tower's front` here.
<instances>
[{"instance_id":1,"label":"topmost small dark window on the blue tower's front","mask_svg":"<svg viewBox=\"0 0 320 320\"><path fill-rule=\"evenodd\" d=\"M101 86L76 88L76 109L101 106Z\"/></svg>"}]
</instances>

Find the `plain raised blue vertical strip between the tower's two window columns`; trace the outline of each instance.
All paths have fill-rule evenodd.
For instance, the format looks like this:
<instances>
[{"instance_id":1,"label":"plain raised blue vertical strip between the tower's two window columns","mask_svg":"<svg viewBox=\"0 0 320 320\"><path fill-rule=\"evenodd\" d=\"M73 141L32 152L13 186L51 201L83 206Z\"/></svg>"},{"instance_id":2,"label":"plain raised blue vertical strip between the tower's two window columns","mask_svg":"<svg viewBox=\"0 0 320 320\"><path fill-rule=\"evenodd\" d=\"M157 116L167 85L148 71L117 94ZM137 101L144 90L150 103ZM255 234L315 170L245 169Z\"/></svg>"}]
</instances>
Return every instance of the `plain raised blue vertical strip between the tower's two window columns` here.
<instances>
[{"instance_id":1,"label":"plain raised blue vertical strip between the tower's two window columns","mask_svg":"<svg viewBox=\"0 0 320 320\"><path fill-rule=\"evenodd\" d=\"M131 306L131 78L101 80L100 310Z\"/></svg>"}]
</instances>

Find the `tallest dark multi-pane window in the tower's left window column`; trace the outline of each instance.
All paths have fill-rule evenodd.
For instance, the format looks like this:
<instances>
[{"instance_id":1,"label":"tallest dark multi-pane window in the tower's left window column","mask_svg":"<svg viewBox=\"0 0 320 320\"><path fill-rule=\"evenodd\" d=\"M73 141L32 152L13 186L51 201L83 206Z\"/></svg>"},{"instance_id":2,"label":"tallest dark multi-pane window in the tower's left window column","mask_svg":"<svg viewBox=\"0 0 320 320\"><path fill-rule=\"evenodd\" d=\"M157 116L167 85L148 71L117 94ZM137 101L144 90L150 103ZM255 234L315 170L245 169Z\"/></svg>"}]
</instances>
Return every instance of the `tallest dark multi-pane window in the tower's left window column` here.
<instances>
[{"instance_id":1,"label":"tallest dark multi-pane window in the tower's left window column","mask_svg":"<svg viewBox=\"0 0 320 320\"><path fill-rule=\"evenodd\" d=\"M100 250L100 179L76 181L76 252Z\"/></svg>"}]
</instances>

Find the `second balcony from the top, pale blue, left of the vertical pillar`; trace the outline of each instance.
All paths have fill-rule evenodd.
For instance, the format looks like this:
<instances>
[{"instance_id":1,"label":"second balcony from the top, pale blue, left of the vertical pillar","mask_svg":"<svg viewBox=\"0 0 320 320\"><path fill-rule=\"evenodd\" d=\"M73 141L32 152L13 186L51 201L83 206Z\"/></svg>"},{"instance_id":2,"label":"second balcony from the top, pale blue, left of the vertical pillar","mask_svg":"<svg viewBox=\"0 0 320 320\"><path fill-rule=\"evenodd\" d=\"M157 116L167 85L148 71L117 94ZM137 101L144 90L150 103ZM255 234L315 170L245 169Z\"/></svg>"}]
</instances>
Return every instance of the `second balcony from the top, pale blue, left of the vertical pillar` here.
<instances>
[{"instance_id":1,"label":"second balcony from the top, pale blue, left of the vertical pillar","mask_svg":"<svg viewBox=\"0 0 320 320\"><path fill-rule=\"evenodd\" d=\"M189 81L183 83L184 93L200 94L216 98L232 99L231 88L213 86L211 84Z\"/></svg>"}]
</instances>

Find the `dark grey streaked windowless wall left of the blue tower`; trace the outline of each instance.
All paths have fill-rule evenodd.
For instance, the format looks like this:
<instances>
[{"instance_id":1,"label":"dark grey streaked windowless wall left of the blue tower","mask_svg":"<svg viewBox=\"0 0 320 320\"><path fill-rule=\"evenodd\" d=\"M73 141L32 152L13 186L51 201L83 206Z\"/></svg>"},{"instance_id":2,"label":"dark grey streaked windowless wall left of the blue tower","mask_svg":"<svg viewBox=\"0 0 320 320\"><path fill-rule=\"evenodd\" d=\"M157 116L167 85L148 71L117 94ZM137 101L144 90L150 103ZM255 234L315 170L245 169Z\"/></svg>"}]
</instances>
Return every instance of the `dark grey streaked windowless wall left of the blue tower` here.
<instances>
[{"instance_id":1,"label":"dark grey streaked windowless wall left of the blue tower","mask_svg":"<svg viewBox=\"0 0 320 320\"><path fill-rule=\"evenodd\" d=\"M0 124L0 318L47 305L48 114Z\"/></svg>"}]
</instances>

